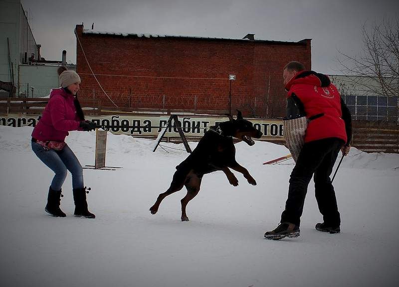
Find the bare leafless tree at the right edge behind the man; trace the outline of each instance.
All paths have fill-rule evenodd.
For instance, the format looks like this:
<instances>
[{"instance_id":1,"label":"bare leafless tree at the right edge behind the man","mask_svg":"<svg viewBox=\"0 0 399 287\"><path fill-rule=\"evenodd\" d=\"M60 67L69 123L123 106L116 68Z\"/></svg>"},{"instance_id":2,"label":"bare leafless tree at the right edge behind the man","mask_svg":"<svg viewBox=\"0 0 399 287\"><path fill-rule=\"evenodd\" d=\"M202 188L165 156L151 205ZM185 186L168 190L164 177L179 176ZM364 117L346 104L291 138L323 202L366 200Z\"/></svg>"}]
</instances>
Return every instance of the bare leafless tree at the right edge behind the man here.
<instances>
[{"instance_id":1,"label":"bare leafless tree at the right edge behind the man","mask_svg":"<svg viewBox=\"0 0 399 287\"><path fill-rule=\"evenodd\" d=\"M377 96L399 95L399 15L362 28L363 49L351 56L339 51L342 72L353 76L358 87Z\"/></svg>"}]
</instances>

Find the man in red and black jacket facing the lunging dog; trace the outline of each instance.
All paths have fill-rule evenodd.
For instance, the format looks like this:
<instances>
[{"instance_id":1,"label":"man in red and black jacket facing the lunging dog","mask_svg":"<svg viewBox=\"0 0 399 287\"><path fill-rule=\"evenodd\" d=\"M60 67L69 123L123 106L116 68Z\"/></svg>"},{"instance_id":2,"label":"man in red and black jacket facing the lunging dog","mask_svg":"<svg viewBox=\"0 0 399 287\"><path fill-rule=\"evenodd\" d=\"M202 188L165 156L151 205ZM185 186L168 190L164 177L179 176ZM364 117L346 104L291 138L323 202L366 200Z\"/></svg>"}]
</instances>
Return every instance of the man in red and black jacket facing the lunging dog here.
<instances>
[{"instance_id":1,"label":"man in red and black jacket facing the lunging dog","mask_svg":"<svg viewBox=\"0 0 399 287\"><path fill-rule=\"evenodd\" d=\"M323 74L305 70L299 62L283 69L287 98L294 98L308 119L305 143L292 170L288 199L280 224L265 233L266 239L300 235L299 225L308 184L314 175L315 195L323 223L316 229L340 232L340 213L330 175L340 149L348 154L352 140L351 114L337 88Z\"/></svg>"}]
</instances>

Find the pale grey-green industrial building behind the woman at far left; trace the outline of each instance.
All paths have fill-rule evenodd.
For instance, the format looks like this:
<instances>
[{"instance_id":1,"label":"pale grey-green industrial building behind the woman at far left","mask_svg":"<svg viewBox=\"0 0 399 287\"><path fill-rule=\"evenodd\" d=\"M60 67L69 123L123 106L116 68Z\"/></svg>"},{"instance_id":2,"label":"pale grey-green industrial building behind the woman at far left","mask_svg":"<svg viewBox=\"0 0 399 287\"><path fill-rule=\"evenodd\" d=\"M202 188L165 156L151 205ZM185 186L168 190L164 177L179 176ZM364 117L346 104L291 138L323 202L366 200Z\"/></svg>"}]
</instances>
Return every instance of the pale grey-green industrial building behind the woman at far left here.
<instances>
[{"instance_id":1,"label":"pale grey-green industrial building behind the woman at far left","mask_svg":"<svg viewBox=\"0 0 399 287\"><path fill-rule=\"evenodd\" d=\"M66 63L66 51L59 60L40 55L20 0L0 0L0 97L45 97L58 87L57 68Z\"/></svg>"}]
</instances>

